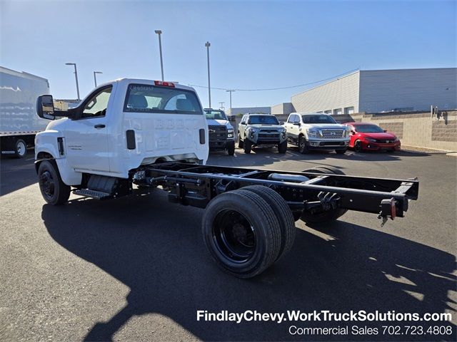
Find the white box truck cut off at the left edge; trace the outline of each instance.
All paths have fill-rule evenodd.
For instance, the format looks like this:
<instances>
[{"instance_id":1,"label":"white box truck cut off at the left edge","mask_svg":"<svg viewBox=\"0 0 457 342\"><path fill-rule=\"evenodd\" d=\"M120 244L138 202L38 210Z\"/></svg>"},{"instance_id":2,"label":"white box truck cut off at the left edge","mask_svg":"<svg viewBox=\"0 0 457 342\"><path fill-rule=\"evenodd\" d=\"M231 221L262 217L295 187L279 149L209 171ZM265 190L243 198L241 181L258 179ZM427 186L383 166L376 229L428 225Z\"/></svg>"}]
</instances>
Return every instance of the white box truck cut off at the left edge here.
<instances>
[{"instance_id":1,"label":"white box truck cut off at the left edge","mask_svg":"<svg viewBox=\"0 0 457 342\"><path fill-rule=\"evenodd\" d=\"M47 94L46 78L0 66L1 154L21 158L34 146L36 133L49 123L36 115L36 98Z\"/></svg>"}]
</instances>

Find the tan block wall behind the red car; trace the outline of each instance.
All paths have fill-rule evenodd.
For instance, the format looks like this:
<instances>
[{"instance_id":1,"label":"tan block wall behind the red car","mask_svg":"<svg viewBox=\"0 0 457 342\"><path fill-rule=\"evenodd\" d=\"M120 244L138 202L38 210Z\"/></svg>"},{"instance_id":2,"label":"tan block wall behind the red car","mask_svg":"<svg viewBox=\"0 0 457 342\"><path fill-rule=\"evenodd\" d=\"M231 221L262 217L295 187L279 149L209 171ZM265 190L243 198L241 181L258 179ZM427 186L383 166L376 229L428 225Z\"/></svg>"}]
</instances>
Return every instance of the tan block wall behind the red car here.
<instances>
[{"instance_id":1,"label":"tan block wall behind the red car","mask_svg":"<svg viewBox=\"0 0 457 342\"><path fill-rule=\"evenodd\" d=\"M375 123L395 133L406 146L457 151L457 110L440 111L438 115L419 113L357 113L335 115L338 122Z\"/></svg>"}]
</instances>

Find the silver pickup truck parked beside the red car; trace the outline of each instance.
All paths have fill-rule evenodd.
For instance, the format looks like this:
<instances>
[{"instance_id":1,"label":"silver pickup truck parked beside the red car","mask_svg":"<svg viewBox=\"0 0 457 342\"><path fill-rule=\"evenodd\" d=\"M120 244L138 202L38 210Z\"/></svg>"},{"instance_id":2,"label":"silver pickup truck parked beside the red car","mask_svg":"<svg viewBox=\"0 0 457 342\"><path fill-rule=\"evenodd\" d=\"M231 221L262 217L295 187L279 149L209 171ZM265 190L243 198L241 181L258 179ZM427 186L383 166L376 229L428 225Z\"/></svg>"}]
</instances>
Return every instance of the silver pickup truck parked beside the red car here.
<instances>
[{"instance_id":1,"label":"silver pickup truck parked beside the red car","mask_svg":"<svg viewBox=\"0 0 457 342\"><path fill-rule=\"evenodd\" d=\"M291 113L285 124L287 140L300 153L335 150L343 155L349 144L349 128L324 113Z\"/></svg>"}]
</instances>

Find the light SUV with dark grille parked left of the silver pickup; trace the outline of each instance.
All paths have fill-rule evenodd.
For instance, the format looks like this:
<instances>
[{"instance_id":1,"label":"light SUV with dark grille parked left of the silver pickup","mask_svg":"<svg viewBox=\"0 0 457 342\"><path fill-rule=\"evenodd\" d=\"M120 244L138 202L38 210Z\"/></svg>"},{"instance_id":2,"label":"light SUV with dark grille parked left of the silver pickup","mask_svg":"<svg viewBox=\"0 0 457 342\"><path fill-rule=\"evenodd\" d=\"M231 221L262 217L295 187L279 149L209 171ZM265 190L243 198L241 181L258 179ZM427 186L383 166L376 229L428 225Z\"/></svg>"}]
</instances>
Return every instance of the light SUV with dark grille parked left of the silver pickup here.
<instances>
[{"instance_id":1,"label":"light SUV with dark grille parked left of the silver pickup","mask_svg":"<svg viewBox=\"0 0 457 342\"><path fill-rule=\"evenodd\" d=\"M286 129L271 114L246 113L238 125L238 147L251 153L252 147L278 147L286 153Z\"/></svg>"}]
</instances>

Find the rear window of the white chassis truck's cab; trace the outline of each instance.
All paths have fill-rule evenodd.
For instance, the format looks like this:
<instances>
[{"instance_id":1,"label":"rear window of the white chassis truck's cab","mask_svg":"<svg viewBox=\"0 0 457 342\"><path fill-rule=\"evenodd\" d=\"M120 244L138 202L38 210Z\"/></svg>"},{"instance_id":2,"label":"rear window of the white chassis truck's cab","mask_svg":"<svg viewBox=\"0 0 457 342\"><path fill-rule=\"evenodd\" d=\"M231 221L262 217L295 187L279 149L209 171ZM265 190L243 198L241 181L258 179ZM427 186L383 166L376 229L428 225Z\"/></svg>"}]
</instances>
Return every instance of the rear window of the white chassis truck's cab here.
<instances>
[{"instance_id":1,"label":"rear window of the white chassis truck's cab","mask_svg":"<svg viewBox=\"0 0 457 342\"><path fill-rule=\"evenodd\" d=\"M129 85L124 112L203 114L193 91L145 84Z\"/></svg>"}]
</instances>

